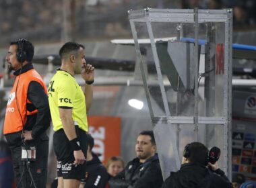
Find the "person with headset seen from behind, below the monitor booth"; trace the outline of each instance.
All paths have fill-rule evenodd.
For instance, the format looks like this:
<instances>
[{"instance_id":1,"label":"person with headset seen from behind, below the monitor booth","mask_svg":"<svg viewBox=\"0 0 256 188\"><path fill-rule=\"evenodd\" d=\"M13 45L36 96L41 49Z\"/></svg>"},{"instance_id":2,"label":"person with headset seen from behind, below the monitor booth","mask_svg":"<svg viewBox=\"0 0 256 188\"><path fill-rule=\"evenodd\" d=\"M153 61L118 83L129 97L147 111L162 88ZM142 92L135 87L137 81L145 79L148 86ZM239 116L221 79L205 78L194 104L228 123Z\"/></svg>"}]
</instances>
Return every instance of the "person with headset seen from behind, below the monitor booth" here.
<instances>
[{"instance_id":1,"label":"person with headset seen from behind, below the monitor booth","mask_svg":"<svg viewBox=\"0 0 256 188\"><path fill-rule=\"evenodd\" d=\"M232 184L218 168L217 162L211 164L207 160L208 149L199 142L185 146L181 169L170 173L162 188L232 188ZM207 164L210 169L207 169Z\"/></svg>"}]
</instances>

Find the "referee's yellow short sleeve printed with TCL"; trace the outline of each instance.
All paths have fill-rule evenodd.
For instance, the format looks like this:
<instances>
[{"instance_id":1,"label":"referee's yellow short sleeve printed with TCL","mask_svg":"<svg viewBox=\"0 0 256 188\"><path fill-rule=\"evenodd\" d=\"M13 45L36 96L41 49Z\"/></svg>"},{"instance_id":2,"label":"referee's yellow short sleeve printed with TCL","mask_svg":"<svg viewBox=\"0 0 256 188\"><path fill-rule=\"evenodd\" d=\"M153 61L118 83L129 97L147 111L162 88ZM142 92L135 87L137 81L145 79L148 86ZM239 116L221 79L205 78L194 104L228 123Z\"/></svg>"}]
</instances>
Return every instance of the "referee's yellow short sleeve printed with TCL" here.
<instances>
[{"instance_id":1,"label":"referee's yellow short sleeve printed with TCL","mask_svg":"<svg viewBox=\"0 0 256 188\"><path fill-rule=\"evenodd\" d=\"M66 79L62 81L58 87L58 106L59 107L73 107L75 100L76 85L73 81Z\"/></svg>"}]
</instances>

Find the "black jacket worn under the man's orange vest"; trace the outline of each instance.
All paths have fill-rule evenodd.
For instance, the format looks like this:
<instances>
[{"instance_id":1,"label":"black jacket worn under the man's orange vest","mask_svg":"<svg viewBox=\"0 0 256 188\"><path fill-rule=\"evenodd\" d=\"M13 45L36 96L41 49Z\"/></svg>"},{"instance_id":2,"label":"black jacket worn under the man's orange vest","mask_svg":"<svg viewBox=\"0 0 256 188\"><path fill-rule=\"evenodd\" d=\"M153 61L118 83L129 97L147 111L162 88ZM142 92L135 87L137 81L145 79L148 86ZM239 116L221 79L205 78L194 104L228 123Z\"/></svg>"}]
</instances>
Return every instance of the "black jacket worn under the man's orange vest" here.
<instances>
[{"instance_id":1,"label":"black jacket worn under the man's orange vest","mask_svg":"<svg viewBox=\"0 0 256 188\"><path fill-rule=\"evenodd\" d=\"M21 74L26 73L33 68L32 63L29 62L22 67ZM20 75L20 69L15 71L13 75ZM22 87L22 85L19 87ZM32 102L32 104L27 103L26 108L28 111L33 111L34 109L38 110L38 113L27 115L24 130L32 130L32 138L34 138L34 140L28 142L32 144L38 140L49 140L49 137L46 135L46 130L49 128L51 123L51 113L48 97L46 93L44 93L44 88L40 83L37 83L36 81L32 81L30 83L28 86L28 99ZM15 132L5 135L10 148L22 145L21 134L21 132Z\"/></svg>"}]
</instances>

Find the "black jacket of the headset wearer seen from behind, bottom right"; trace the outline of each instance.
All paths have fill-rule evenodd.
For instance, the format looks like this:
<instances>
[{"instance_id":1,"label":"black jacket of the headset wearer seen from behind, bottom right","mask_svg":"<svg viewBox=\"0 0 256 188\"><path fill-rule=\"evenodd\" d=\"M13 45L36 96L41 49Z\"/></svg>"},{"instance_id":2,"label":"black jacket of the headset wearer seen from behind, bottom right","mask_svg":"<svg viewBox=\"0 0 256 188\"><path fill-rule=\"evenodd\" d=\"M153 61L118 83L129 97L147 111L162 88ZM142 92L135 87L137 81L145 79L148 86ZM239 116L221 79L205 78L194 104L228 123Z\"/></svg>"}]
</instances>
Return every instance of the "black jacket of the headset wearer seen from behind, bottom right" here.
<instances>
[{"instance_id":1,"label":"black jacket of the headset wearer seen from behind, bottom right","mask_svg":"<svg viewBox=\"0 0 256 188\"><path fill-rule=\"evenodd\" d=\"M216 173L199 164L182 164L179 171L170 173L162 188L232 188L223 171L218 169Z\"/></svg>"}]
</instances>

